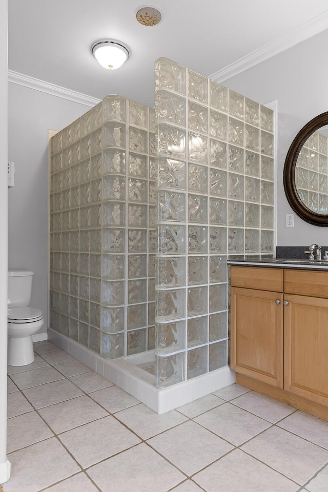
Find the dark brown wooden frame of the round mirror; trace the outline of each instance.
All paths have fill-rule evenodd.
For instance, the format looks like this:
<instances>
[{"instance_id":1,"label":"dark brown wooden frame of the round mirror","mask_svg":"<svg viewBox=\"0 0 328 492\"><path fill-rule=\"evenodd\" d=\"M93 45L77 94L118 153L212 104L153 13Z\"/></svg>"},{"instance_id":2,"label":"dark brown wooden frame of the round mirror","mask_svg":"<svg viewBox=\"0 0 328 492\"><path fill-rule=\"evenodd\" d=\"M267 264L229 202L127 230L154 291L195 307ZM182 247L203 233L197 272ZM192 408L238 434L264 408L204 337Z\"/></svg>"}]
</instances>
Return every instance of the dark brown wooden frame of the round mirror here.
<instances>
[{"instance_id":1,"label":"dark brown wooden frame of the round mirror","mask_svg":"<svg viewBox=\"0 0 328 492\"><path fill-rule=\"evenodd\" d=\"M290 206L301 219L313 224L313 226L328 227L328 215L317 214L305 207L298 196L295 182L296 162L303 145L312 133L324 125L328 125L328 111L306 123L294 138L284 163L283 188Z\"/></svg>"}]
</instances>

